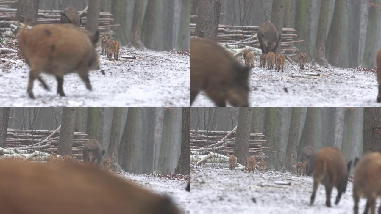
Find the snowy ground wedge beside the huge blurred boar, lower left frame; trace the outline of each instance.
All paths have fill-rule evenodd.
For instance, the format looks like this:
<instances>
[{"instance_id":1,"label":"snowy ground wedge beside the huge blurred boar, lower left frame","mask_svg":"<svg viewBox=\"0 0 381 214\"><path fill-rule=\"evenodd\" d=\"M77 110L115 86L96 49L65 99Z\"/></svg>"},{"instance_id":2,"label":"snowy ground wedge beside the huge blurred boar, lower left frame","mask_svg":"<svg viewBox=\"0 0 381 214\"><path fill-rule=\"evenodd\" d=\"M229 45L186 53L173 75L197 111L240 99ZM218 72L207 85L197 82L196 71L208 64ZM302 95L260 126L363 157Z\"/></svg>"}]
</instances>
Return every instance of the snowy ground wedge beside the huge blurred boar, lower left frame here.
<instances>
[{"instance_id":1,"label":"snowy ground wedge beside the huge blurred boar, lower left frame","mask_svg":"<svg viewBox=\"0 0 381 214\"><path fill-rule=\"evenodd\" d=\"M191 213L191 193L185 190L189 176L179 174L132 174L123 172L118 176L160 195L167 195L182 213ZM193 211L192 211L193 212Z\"/></svg>"}]
</instances>

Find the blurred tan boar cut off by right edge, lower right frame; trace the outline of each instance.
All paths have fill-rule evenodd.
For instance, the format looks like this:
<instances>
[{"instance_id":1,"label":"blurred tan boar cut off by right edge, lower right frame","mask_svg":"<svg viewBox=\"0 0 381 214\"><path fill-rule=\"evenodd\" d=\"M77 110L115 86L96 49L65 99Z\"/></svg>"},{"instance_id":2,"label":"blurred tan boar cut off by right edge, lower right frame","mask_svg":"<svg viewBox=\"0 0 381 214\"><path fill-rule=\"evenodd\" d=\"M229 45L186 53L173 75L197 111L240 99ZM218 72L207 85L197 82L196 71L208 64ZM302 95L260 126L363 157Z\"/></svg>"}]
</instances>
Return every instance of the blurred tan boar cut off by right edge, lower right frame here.
<instances>
[{"instance_id":1,"label":"blurred tan boar cut off by right edge, lower right frame","mask_svg":"<svg viewBox=\"0 0 381 214\"><path fill-rule=\"evenodd\" d=\"M359 213L360 197L367 198L367 204L363 213L368 213L370 207L370 213L375 214L376 198L381 196L380 176L381 154L379 152L367 153L355 164L355 174L353 177L354 214ZM381 206L378 208L378 213L380 212Z\"/></svg>"}]
</instances>

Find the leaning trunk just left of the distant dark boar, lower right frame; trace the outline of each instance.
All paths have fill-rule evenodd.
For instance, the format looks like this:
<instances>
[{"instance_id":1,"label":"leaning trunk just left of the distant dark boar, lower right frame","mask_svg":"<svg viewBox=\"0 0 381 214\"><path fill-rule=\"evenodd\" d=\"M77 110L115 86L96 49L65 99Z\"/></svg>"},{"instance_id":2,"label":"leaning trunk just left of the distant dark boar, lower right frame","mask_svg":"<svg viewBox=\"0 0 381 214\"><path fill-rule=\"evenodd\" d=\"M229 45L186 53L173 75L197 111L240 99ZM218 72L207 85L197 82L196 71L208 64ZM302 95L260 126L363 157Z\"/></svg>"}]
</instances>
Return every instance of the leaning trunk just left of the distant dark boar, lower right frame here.
<instances>
[{"instance_id":1,"label":"leaning trunk just left of the distant dark boar, lower right frame","mask_svg":"<svg viewBox=\"0 0 381 214\"><path fill-rule=\"evenodd\" d=\"M300 160L300 155L304 147L307 145L314 145L315 118L316 107L308 107L306 113L306 121L304 121L303 131L298 146L298 160Z\"/></svg>"}]
</instances>

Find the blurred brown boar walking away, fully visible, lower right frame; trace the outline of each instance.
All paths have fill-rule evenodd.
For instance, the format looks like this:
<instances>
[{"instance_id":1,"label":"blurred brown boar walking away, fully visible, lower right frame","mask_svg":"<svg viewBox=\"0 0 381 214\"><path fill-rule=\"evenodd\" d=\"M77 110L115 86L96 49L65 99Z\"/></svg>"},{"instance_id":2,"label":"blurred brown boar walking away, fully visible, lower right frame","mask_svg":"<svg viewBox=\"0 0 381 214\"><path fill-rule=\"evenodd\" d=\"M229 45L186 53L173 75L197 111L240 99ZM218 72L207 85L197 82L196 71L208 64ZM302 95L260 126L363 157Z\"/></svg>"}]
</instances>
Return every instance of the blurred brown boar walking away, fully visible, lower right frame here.
<instances>
[{"instance_id":1,"label":"blurred brown boar walking away, fully visible, lower right frame","mask_svg":"<svg viewBox=\"0 0 381 214\"><path fill-rule=\"evenodd\" d=\"M314 204L317 187L321 182L325 186L325 205L331 207L332 188L336 187L338 195L335 204L340 201L341 194L347 188L348 176L352 161L346 164L343 153L338 148L324 147L317 152L314 162L314 188L312 190L310 205Z\"/></svg>"}]
</instances>

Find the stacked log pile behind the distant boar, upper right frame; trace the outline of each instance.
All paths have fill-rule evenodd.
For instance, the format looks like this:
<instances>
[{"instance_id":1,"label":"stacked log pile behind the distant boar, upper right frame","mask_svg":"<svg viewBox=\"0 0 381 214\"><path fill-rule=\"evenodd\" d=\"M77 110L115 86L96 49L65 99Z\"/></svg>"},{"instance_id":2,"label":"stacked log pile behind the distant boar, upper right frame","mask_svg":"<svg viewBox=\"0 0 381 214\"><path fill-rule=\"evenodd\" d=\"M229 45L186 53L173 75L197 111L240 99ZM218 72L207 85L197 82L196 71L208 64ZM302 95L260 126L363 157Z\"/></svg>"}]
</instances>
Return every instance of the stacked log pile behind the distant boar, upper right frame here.
<instances>
[{"instance_id":1,"label":"stacked log pile behind the distant boar, upper right frame","mask_svg":"<svg viewBox=\"0 0 381 214\"><path fill-rule=\"evenodd\" d=\"M260 48L257 36L258 28L258 26L231 26L220 24L218 26L217 42L223 45L247 45ZM191 23L191 37L194 37L195 30L196 24ZM295 41L297 36L295 29L283 27L282 54L286 54L289 57L296 56L295 51L297 51L297 48L294 44L303 42L303 40Z\"/></svg>"}]
</instances>

